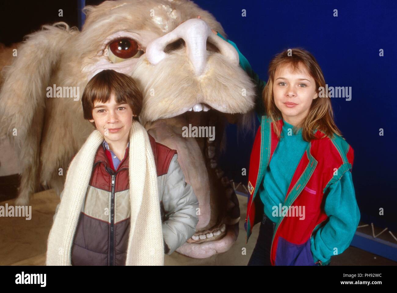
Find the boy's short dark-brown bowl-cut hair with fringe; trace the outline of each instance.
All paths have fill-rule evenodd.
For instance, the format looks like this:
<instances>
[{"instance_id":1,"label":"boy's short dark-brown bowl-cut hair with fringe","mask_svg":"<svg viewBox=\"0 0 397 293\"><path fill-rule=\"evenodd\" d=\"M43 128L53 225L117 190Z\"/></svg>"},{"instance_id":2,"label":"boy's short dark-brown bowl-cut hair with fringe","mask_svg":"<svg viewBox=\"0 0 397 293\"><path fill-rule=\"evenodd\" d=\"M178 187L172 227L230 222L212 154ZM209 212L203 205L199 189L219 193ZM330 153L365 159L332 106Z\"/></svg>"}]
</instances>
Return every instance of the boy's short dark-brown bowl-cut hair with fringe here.
<instances>
[{"instance_id":1,"label":"boy's short dark-brown bowl-cut hair with fringe","mask_svg":"<svg viewBox=\"0 0 397 293\"><path fill-rule=\"evenodd\" d=\"M135 80L126 74L112 69L102 70L96 73L87 83L81 102L83 104L84 119L93 119L94 102L106 103L111 94L114 94L117 103L127 103L132 109L134 120L138 120L141 114L143 95L138 89ZM92 122L95 127L95 123Z\"/></svg>"}]
</instances>

